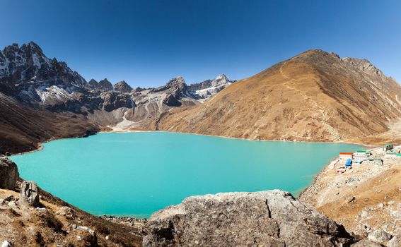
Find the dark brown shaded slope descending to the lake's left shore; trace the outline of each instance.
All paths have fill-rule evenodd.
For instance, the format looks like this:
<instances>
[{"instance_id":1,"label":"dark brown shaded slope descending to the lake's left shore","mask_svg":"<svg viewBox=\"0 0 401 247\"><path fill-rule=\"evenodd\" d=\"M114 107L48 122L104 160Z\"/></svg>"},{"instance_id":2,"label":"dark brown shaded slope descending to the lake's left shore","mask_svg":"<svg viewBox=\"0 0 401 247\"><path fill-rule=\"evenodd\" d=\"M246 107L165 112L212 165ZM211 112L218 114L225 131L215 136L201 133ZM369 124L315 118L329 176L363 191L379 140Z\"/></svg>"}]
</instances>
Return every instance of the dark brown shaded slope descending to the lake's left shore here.
<instances>
[{"instance_id":1,"label":"dark brown shaded slope descending to the lake's left shore","mask_svg":"<svg viewBox=\"0 0 401 247\"><path fill-rule=\"evenodd\" d=\"M0 154L35 150L37 143L71 138L98 131L75 114L56 114L25 107L0 93Z\"/></svg>"}]
</instances>

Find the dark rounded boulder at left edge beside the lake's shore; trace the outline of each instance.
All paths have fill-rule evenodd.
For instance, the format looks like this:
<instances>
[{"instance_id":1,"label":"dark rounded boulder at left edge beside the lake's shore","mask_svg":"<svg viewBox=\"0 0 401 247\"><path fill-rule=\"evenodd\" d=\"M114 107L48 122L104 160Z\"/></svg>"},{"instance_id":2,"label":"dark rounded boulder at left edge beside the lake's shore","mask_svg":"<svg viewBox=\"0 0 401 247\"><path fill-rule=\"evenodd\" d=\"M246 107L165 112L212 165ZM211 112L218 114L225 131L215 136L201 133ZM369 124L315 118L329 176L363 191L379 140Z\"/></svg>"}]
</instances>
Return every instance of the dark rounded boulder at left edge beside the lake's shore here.
<instances>
[{"instance_id":1,"label":"dark rounded boulder at left edge beside the lake's shore","mask_svg":"<svg viewBox=\"0 0 401 247\"><path fill-rule=\"evenodd\" d=\"M0 188L13 190L16 188L19 176L16 163L6 156L0 156Z\"/></svg>"}]
</instances>

